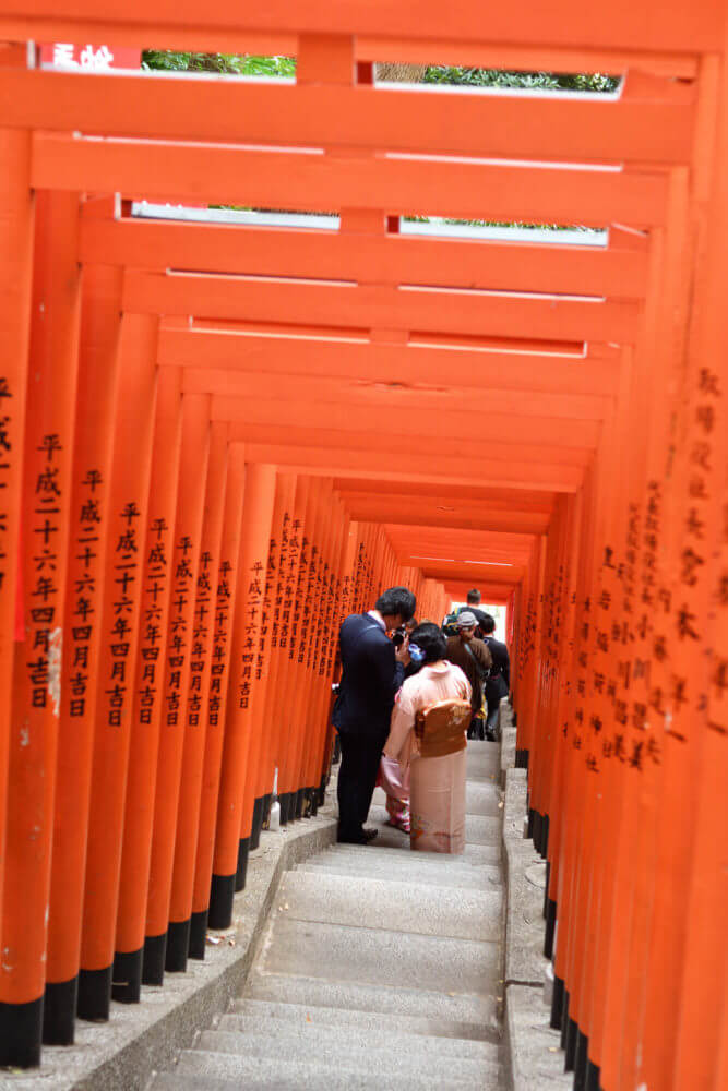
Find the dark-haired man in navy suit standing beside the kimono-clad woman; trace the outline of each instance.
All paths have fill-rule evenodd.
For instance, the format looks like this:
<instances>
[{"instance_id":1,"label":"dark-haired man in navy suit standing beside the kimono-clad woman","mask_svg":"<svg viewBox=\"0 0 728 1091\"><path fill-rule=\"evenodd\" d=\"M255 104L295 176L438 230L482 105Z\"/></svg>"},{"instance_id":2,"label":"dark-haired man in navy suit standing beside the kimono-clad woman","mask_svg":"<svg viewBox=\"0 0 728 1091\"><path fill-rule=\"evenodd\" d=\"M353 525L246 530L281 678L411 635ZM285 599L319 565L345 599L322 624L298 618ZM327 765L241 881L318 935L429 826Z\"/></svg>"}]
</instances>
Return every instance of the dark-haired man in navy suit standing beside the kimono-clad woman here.
<instances>
[{"instance_id":1,"label":"dark-haired man in navy suit standing beside the kimono-clad woman","mask_svg":"<svg viewBox=\"0 0 728 1091\"><path fill-rule=\"evenodd\" d=\"M396 649L387 632L415 613L417 602L406 587L391 587L374 609L349 614L339 631L342 681L333 721L342 743L338 770L338 840L367 844L377 836L365 830L382 747L390 732L394 695L409 661L407 642Z\"/></svg>"}]
</instances>

